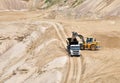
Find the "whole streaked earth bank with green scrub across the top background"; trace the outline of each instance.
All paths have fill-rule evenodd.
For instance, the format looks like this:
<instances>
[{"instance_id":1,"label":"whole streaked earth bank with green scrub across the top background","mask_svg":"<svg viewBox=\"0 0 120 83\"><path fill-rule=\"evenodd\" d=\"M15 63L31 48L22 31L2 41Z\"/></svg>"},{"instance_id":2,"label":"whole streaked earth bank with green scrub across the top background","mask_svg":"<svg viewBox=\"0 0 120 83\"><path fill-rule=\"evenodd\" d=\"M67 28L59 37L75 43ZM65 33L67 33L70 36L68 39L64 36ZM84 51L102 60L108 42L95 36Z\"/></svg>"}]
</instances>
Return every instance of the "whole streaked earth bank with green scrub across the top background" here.
<instances>
[{"instance_id":1,"label":"whole streaked earth bank with green scrub across the top background","mask_svg":"<svg viewBox=\"0 0 120 83\"><path fill-rule=\"evenodd\" d=\"M0 0L0 11L49 9L64 17L106 18L120 16L119 4L120 0Z\"/></svg>"}]
</instances>

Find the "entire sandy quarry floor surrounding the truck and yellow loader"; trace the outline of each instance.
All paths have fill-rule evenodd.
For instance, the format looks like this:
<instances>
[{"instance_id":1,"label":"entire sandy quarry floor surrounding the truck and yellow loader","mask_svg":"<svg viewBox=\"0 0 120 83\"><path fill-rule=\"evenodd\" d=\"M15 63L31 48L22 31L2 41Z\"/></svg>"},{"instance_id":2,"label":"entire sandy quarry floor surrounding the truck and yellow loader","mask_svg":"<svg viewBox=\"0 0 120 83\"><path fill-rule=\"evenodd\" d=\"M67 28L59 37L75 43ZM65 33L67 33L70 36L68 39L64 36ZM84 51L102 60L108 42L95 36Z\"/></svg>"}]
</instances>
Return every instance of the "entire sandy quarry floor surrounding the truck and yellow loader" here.
<instances>
[{"instance_id":1,"label":"entire sandy quarry floor surrounding the truck and yellow loader","mask_svg":"<svg viewBox=\"0 0 120 83\"><path fill-rule=\"evenodd\" d=\"M120 82L119 19L52 20L35 12L0 15L0 83ZM72 31L97 38L101 49L69 57L65 39Z\"/></svg>"}]
</instances>

